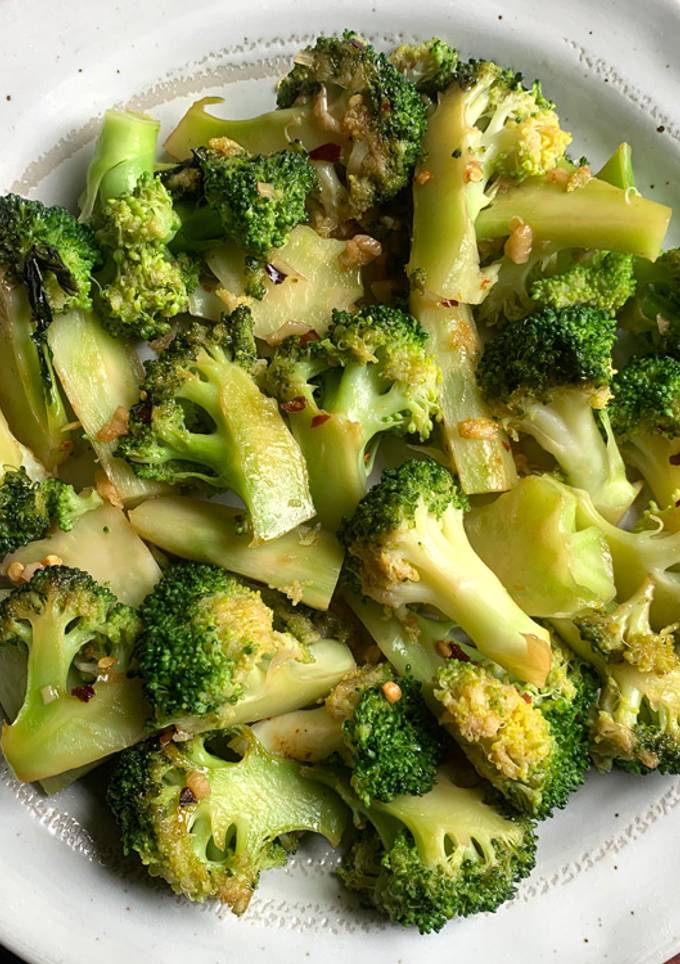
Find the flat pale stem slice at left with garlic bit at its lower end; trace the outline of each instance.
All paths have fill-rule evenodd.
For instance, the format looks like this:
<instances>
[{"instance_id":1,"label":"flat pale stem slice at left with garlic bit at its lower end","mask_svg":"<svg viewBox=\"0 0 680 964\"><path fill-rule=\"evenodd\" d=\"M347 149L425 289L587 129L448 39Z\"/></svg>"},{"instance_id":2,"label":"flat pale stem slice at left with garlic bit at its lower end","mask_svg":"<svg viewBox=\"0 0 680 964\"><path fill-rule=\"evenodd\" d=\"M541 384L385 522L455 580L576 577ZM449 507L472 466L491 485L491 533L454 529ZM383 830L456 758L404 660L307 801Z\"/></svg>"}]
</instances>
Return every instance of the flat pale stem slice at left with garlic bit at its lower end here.
<instances>
[{"instance_id":1,"label":"flat pale stem slice at left with garlic bit at its lower end","mask_svg":"<svg viewBox=\"0 0 680 964\"><path fill-rule=\"evenodd\" d=\"M84 311L55 318L48 342L71 408L123 504L134 506L167 492L168 486L140 479L124 459L114 456L115 435L106 439L118 410L126 414L139 401L144 370L132 345L114 338L95 315Z\"/></svg>"}]
</instances>

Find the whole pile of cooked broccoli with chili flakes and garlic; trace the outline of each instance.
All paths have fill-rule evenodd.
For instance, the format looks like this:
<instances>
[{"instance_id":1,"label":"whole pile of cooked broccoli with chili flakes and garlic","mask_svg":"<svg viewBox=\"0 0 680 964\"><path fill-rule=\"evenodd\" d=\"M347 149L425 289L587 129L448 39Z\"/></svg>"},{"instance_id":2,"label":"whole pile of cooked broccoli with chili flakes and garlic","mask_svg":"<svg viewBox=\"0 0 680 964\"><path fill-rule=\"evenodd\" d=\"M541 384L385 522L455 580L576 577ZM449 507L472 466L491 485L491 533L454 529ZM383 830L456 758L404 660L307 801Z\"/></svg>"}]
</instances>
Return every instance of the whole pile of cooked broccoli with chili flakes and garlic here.
<instances>
[{"instance_id":1,"label":"whole pile of cooked broccoli with chili flakes and garlic","mask_svg":"<svg viewBox=\"0 0 680 964\"><path fill-rule=\"evenodd\" d=\"M103 763L177 895L243 914L320 834L438 931L591 765L680 773L671 210L445 38L219 102L165 155L106 111L79 218L0 197L0 749Z\"/></svg>"}]
</instances>

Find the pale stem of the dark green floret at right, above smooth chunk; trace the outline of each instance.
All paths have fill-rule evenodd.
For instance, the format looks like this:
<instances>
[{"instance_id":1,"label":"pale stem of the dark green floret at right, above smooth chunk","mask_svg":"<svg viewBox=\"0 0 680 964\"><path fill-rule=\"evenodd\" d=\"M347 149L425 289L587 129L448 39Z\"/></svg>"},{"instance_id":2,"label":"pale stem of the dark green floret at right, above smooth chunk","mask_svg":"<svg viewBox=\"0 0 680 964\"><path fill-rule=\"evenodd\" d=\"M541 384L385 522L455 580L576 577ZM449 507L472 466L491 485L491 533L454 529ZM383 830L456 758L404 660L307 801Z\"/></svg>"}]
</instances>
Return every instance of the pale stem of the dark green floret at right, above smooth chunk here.
<instances>
[{"instance_id":1,"label":"pale stem of the dark green floret at right, above smooth chunk","mask_svg":"<svg viewBox=\"0 0 680 964\"><path fill-rule=\"evenodd\" d=\"M588 394L562 389L547 405L528 402L517 427L556 459L573 486L590 493L606 519L618 522L640 487L626 477L607 413L601 411L599 417L606 440Z\"/></svg>"}]
</instances>

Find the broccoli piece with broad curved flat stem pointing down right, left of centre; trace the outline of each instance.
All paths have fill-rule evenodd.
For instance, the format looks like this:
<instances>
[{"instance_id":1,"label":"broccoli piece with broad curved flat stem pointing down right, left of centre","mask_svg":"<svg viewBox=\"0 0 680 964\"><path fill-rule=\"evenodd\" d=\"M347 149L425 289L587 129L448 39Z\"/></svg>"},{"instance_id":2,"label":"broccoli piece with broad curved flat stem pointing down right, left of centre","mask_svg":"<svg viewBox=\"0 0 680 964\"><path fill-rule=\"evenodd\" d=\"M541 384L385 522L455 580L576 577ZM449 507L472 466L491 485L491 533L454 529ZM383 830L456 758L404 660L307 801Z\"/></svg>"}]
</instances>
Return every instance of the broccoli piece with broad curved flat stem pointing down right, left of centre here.
<instances>
[{"instance_id":1,"label":"broccoli piece with broad curved flat stem pointing down right, left of centre","mask_svg":"<svg viewBox=\"0 0 680 964\"><path fill-rule=\"evenodd\" d=\"M314 506L302 453L258 388L254 357L247 308L177 335L146 363L145 395L116 454L143 479L232 489L261 542L312 518Z\"/></svg>"}]
</instances>

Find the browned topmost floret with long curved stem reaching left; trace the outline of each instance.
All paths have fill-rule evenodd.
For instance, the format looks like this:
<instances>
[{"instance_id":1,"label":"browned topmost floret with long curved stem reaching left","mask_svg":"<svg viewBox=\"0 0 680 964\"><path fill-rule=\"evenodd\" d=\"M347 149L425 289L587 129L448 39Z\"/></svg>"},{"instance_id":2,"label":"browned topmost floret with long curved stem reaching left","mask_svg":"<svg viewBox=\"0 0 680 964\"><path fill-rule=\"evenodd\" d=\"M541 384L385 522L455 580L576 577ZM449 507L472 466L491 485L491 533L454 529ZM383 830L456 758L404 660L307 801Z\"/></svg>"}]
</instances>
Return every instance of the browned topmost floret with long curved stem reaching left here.
<instances>
[{"instance_id":1,"label":"browned topmost floret with long curved stem reaching left","mask_svg":"<svg viewBox=\"0 0 680 964\"><path fill-rule=\"evenodd\" d=\"M193 148L221 137L254 154L280 151L294 141L312 158L315 151L332 151L347 183L347 214L354 218L406 187L427 115L415 87L351 31L319 37L296 56L279 84L279 110L223 120L205 110L216 102L206 98L190 108L166 141L173 157L183 160Z\"/></svg>"}]
</instances>

